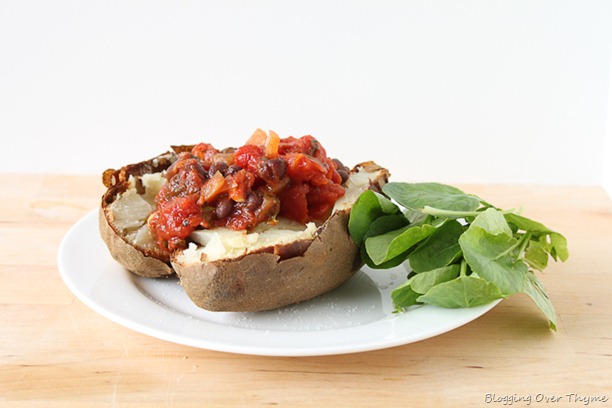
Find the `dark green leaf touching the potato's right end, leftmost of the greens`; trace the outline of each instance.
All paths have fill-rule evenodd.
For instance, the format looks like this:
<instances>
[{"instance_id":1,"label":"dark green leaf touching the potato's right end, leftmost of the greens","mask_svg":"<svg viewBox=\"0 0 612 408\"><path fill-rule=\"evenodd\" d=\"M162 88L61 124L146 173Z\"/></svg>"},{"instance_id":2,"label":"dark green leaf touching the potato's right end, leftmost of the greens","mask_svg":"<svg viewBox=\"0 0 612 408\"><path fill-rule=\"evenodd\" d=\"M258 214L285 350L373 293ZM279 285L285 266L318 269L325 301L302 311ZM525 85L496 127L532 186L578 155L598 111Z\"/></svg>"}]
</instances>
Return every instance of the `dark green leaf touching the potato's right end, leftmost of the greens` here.
<instances>
[{"instance_id":1,"label":"dark green leaf touching the potato's right end, leftmost of the greens","mask_svg":"<svg viewBox=\"0 0 612 408\"><path fill-rule=\"evenodd\" d=\"M372 222L383 215L399 212L399 208L383 195L372 190L364 191L351 209L349 232L357 245L361 245Z\"/></svg>"}]
</instances>

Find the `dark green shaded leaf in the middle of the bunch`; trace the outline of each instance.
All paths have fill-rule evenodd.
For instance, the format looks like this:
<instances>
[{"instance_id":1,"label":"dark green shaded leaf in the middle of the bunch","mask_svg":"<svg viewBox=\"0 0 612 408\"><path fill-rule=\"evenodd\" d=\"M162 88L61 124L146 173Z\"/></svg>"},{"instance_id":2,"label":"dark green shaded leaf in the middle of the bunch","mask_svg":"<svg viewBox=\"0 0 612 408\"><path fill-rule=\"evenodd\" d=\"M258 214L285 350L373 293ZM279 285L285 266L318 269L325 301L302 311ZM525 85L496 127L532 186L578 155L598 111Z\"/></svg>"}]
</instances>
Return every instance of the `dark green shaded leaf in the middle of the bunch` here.
<instances>
[{"instance_id":1,"label":"dark green shaded leaf in the middle of the bunch","mask_svg":"<svg viewBox=\"0 0 612 408\"><path fill-rule=\"evenodd\" d=\"M461 255L459 236L464 230L458 221L447 220L408 256L412 270L423 272L450 265Z\"/></svg>"}]
</instances>

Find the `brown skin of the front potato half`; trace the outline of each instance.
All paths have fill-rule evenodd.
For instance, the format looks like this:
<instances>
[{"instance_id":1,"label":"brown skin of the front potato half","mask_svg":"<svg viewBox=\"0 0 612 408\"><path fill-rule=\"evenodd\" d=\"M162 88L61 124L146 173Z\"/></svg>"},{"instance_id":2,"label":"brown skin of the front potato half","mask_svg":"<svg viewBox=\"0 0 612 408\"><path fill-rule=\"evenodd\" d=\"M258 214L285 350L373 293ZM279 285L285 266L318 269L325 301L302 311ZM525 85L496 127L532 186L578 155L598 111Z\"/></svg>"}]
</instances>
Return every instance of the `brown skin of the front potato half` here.
<instances>
[{"instance_id":1,"label":"brown skin of the front potato half","mask_svg":"<svg viewBox=\"0 0 612 408\"><path fill-rule=\"evenodd\" d=\"M371 183L379 190L388 172L380 169ZM241 258L172 266L187 295L210 311L257 312L312 299L348 280L361 268L359 249L348 232L350 210L334 213L301 255L281 259L279 251L262 251Z\"/></svg>"}]
</instances>

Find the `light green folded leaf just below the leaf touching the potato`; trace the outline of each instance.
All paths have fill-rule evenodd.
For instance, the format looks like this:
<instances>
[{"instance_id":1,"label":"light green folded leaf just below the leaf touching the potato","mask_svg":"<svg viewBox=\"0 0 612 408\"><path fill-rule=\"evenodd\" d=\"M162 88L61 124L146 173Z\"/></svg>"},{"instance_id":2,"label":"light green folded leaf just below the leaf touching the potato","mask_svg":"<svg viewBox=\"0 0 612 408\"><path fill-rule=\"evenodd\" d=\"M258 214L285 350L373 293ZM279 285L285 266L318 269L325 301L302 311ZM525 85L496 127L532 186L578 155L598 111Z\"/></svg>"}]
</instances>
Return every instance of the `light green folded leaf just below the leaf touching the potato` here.
<instances>
[{"instance_id":1,"label":"light green folded leaf just below the leaf touching the potato","mask_svg":"<svg viewBox=\"0 0 612 408\"><path fill-rule=\"evenodd\" d=\"M389 261L406 252L412 246L427 238L436 230L429 224L408 225L365 240L366 251L376 265Z\"/></svg>"}]
</instances>

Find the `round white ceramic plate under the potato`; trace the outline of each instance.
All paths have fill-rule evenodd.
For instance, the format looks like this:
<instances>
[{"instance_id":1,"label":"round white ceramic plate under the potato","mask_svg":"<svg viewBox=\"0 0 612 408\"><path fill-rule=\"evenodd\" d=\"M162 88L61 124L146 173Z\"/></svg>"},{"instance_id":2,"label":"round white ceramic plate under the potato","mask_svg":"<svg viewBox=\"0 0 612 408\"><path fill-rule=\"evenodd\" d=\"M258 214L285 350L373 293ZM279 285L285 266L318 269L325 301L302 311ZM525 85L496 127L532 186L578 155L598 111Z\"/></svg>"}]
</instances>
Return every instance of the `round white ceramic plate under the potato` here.
<instances>
[{"instance_id":1,"label":"round white ceramic plate under the potato","mask_svg":"<svg viewBox=\"0 0 612 408\"><path fill-rule=\"evenodd\" d=\"M77 298L116 323L174 343L241 354L314 356L394 347L453 330L499 303L427 305L396 314L390 293L405 271L364 267L308 302L270 312L208 312L189 300L176 278L140 278L117 264L98 233L97 211L66 234L58 266Z\"/></svg>"}]
</instances>

